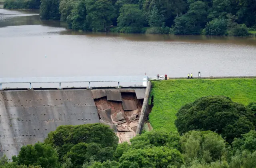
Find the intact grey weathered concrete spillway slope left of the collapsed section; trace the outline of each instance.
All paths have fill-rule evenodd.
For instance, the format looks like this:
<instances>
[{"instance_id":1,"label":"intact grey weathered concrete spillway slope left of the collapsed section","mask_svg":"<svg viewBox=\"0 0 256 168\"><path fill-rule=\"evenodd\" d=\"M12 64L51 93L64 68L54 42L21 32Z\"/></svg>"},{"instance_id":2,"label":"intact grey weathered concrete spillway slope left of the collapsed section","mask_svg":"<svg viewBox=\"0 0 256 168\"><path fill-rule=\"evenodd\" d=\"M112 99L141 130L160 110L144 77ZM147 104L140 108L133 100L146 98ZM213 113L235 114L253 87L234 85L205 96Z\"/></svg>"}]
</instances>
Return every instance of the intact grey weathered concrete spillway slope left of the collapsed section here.
<instances>
[{"instance_id":1,"label":"intact grey weathered concrete spillway slope left of the collapsed section","mask_svg":"<svg viewBox=\"0 0 256 168\"><path fill-rule=\"evenodd\" d=\"M0 156L43 141L60 125L100 122L90 90L0 92Z\"/></svg>"}]
</instances>

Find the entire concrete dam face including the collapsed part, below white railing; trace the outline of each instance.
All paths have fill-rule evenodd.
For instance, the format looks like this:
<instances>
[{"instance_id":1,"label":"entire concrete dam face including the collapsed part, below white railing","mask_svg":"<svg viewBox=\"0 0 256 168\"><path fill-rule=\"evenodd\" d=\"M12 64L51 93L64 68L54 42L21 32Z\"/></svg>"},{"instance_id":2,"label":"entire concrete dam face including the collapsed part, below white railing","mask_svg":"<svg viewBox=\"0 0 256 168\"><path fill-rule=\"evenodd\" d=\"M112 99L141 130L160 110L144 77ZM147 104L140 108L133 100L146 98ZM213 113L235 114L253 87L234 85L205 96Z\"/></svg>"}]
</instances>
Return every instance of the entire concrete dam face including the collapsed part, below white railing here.
<instances>
[{"instance_id":1,"label":"entire concrete dam face including the collapsed part, below white railing","mask_svg":"<svg viewBox=\"0 0 256 168\"><path fill-rule=\"evenodd\" d=\"M136 135L145 88L5 90L0 92L0 156L43 142L60 125L102 122L120 142Z\"/></svg>"}]
</instances>

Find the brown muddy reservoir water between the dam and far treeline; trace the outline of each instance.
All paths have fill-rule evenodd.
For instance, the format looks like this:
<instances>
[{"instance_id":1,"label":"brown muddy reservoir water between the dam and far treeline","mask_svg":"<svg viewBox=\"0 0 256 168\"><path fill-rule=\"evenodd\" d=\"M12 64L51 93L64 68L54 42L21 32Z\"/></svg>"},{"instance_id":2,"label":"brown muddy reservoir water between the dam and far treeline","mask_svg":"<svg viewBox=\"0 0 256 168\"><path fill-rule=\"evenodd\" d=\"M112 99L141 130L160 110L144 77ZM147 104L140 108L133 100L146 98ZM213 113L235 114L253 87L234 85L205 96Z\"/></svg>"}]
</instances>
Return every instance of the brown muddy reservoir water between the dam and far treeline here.
<instances>
[{"instance_id":1,"label":"brown muddy reservoir water between the dam and far treeline","mask_svg":"<svg viewBox=\"0 0 256 168\"><path fill-rule=\"evenodd\" d=\"M0 9L0 77L255 76L256 39L80 33Z\"/></svg>"}]
</instances>

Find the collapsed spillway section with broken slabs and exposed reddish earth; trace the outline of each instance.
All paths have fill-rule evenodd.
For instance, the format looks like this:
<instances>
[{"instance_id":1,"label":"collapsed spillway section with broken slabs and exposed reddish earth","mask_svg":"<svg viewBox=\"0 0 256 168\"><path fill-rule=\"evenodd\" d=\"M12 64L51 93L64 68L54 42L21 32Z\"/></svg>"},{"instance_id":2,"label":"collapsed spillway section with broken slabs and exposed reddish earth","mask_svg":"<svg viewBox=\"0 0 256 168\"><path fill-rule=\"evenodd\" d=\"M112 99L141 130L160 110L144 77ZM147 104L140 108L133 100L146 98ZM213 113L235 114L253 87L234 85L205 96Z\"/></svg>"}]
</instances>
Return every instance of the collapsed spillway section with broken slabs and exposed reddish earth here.
<instances>
[{"instance_id":1,"label":"collapsed spillway section with broken slabs and exposed reddish earth","mask_svg":"<svg viewBox=\"0 0 256 168\"><path fill-rule=\"evenodd\" d=\"M130 138L136 136L144 100L141 96L143 93L145 95L146 89L136 90L106 90L106 96L97 91L98 95L94 96L100 120L116 127L114 130L117 130L116 134L120 143L129 142ZM137 98L136 92L140 94L140 99Z\"/></svg>"}]
</instances>

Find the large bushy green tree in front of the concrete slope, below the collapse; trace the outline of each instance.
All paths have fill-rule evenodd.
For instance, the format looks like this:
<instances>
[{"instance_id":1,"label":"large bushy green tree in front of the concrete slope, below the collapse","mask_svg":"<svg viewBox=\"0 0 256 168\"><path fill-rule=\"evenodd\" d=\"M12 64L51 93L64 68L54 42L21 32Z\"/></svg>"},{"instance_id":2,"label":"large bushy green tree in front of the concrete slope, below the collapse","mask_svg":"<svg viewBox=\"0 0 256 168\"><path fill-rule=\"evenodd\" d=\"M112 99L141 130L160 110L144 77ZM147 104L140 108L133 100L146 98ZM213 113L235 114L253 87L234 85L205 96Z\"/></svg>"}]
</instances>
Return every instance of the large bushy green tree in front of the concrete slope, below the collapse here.
<instances>
[{"instance_id":1,"label":"large bushy green tree in front of the concrete slope, below the collapse","mask_svg":"<svg viewBox=\"0 0 256 168\"><path fill-rule=\"evenodd\" d=\"M118 137L103 124L66 125L50 132L45 143L56 148L60 162L71 158L72 164L81 167L91 157L101 162L112 158Z\"/></svg>"}]
</instances>

